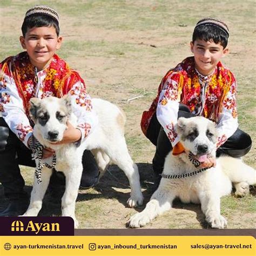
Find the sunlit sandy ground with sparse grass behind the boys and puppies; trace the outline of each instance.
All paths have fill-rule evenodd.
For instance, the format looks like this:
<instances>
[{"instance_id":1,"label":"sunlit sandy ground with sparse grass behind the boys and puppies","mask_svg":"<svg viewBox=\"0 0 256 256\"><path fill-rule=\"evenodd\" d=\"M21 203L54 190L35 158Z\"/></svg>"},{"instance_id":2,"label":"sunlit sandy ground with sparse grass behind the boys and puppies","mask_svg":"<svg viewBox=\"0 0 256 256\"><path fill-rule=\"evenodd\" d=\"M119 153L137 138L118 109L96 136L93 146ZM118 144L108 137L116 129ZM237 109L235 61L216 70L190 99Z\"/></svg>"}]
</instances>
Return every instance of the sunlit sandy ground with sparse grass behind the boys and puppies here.
<instances>
[{"instance_id":1,"label":"sunlit sandy ground with sparse grass behind the boys and puppies","mask_svg":"<svg viewBox=\"0 0 256 256\"><path fill-rule=\"evenodd\" d=\"M140 130L142 112L149 108L165 73L187 56L193 27L205 16L224 19L230 26L230 55L224 63L238 80L240 128L255 142L255 3L254 1L42 1L60 14L64 38L58 54L85 79L91 97L122 107L127 116L126 140L138 164L145 203L127 208L129 183L111 165L95 188L79 191L76 214L80 228L125 228L142 211L153 189L154 147ZM35 1L1 3L1 59L22 51L18 37L25 11ZM196 10L196 11L195 11ZM253 11L254 10L254 11ZM134 98L135 97L135 98ZM134 98L134 99L132 99ZM130 100L132 99L132 100ZM255 145L244 158L255 165ZM33 169L22 167L30 191ZM40 215L60 215L60 191L48 193ZM6 206L0 187L0 208ZM255 188L246 198L225 197L221 213L229 228L255 228ZM176 201L173 209L145 228L208 228L199 205Z\"/></svg>"}]
</instances>

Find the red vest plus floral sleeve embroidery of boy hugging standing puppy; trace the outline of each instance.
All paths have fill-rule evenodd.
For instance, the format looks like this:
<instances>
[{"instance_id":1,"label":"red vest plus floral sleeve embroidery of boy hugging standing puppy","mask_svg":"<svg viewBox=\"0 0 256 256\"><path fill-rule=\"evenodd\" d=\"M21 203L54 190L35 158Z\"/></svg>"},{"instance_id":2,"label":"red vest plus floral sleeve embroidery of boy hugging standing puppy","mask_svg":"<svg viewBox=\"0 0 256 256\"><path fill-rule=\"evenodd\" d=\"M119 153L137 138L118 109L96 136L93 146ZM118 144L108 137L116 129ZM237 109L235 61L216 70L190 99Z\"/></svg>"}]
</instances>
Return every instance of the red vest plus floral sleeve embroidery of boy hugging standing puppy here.
<instances>
[{"instance_id":1,"label":"red vest plus floral sleeve embroidery of boy hugging standing puppy","mask_svg":"<svg viewBox=\"0 0 256 256\"><path fill-rule=\"evenodd\" d=\"M0 111L4 112L5 104L12 106L12 96L6 93L6 87L9 84L15 84L18 95L22 100L24 111L29 118L29 100L35 97L35 89L37 88L37 97L45 98L49 96L56 96L58 98L68 94L72 87L78 84L76 89L71 91L71 95L76 95L77 104L84 106L87 111L91 111L91 100L87 96L84 80L79 74L69 68L68 64L57 55L53 55L51 63L45 70L37 72L36 68L31 64L28 53L21 52L16 56L6 58L0 63L0 69L5 75L7 82L3 77L0 77ZM44 79L43 79L44 78ZM37 87L39 86L39 87ZM7 106L6 106L7 109ZM83 111L83 109L81 110ZM23 117L22 117L23 118ZM31 120L30 120L31 121ZM30 122L32 124L32 122ZM91 126L84 124L80 126L84 129L85 134L89 133ZM16 135L24 141L26 134L32 131L30 125L25 121L20 121L13 127Z\"/></svg>"}]
</instances>

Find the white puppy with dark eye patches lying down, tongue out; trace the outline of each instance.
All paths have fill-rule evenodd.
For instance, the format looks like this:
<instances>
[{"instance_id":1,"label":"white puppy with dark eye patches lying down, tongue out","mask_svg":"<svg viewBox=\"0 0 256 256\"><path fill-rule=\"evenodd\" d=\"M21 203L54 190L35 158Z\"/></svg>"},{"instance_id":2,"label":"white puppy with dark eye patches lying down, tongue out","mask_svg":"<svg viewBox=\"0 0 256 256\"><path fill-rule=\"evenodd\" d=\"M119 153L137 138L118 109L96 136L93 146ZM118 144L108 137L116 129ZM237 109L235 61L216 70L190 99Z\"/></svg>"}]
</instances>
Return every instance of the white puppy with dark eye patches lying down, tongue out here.
<instances>
[{"instance_id":1,"label":"white puppy with dark eye patches lying down, tongue out","mask_svg":"<svg viewBox=\"0 0 256 256\"><path fill-rule=\"evenodd\" d=\"M223 156L217 159L216 167L190 177L187 173L200 170L193 160L203 163L207 157L215 157L216 130L214 123L204 117L179 118L177 130L185 152L178 156L173 156L172 152L167 155L163 171L166 178L161 179L144 211L133 215L127 224L130 227L146 225L170 210L172 201L178 197L183 203L201 204L206 221L213 228L224 228L227 221L220 215L220 197L231 193L232 183L235 194L245 196L249 185L256 184L256 172L241 159ZM192 156L192 161L188 156ZM170 179L171 175L181 178Z\"/></svg>"}]
</instances>

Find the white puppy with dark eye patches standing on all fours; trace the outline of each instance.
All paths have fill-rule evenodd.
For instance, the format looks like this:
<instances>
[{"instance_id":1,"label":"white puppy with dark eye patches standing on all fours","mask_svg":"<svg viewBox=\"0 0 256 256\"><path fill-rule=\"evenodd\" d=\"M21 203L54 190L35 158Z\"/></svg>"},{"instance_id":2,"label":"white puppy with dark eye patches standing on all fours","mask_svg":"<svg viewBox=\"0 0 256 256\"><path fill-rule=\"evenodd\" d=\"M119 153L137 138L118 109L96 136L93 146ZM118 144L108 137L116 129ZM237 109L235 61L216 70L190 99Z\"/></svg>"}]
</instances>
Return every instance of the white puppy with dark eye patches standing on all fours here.
<instances>
[{"instance_id":1,"label":"white puppy with dark eye patches standing on all fours","mask_svg":"<svg viewBox=\"0 0 256 256\"><path fill-rule=\"evenodd\" d=\"M80 146L74 143L54 145L52 143L62 140L68 120L73 126L77 125L77 118L72 113L69 96L32 98L30 103L30 115L35 122L33 134L43 146L55 150L57 160L55 169L65 174L66 189L62 198L62 215L72 217L75 221L75 228L78 227L75 203L83 171L82 156L85 149L91 150L94 154L101 175L110 160L117 164L130 182L131 197L127 204L130 207L143 204L138 167L129 155L124 137L125 114L119 107L106 100L92 99L93 111L99 120L95 129L82 140ZM52 162L52 158L45 160L48 164ZM36 164L38 165L38 160ZM51 173L52 170L48 167L43 168L41 184L38 184L35 177L30 205L23 216L37 216L41 210Z\"/></svg>"}]
</instances>

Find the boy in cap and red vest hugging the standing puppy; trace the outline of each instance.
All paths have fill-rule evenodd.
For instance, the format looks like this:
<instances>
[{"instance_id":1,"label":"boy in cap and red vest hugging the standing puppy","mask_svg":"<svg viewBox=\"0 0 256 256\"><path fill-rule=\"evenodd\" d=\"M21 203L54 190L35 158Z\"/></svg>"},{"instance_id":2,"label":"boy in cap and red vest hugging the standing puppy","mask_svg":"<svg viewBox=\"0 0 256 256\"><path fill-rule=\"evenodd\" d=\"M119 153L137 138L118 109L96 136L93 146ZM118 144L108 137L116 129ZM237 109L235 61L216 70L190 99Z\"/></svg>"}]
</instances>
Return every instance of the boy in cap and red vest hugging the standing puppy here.
<instances>
[{"instance_id":1,"label":"boy in cap and red vest hugging the standing puppy","mask_svg":"<svg viewBox=\"0 0 256 256\"><path fill-rule=\"evenodd\" d=\"M0 64L0 182L10 200L0 216L21 215L28 207L28 194L23 190L24 179L18 165L35 166L29 149L33 131L30 98L71 95L78 126L68 124L61 143L78 142L97 125L84 80L55 54L62 44L57 12L49 6L33 6L25 14L22 33L20 42L26 51ZM47 158L53 152L44 149L43 154ZM86 172L80 185L91 187L97 183L99 173L90 151L84 152L83 165Z\"/></svg>"}]
</instances>

